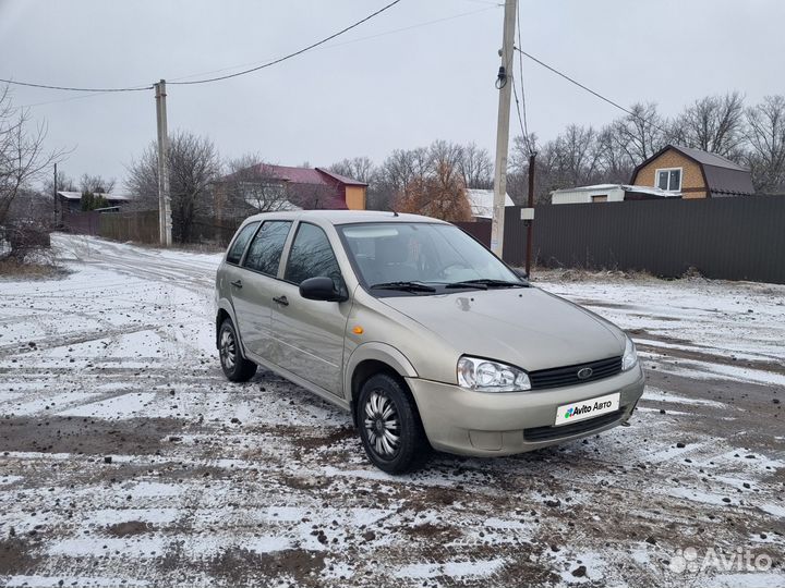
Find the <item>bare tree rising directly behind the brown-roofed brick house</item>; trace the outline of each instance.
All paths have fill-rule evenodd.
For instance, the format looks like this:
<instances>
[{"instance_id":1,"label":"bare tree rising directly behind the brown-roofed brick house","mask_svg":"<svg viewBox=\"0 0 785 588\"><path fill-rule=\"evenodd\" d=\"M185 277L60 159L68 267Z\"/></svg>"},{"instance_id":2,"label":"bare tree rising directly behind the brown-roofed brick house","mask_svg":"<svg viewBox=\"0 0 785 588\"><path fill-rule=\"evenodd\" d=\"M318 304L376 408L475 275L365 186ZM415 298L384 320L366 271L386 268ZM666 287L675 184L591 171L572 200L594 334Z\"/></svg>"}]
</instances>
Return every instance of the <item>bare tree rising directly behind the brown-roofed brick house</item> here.
<instances>
[{"instance_id":1,"label":"bare tree rising directly behind the brown-roofed brick house","mask_svg":"<svg viewBox=\"0 0 785 588\"><path fill-rule=\"evenodd\" d=\"M744 98L738 91L696 100L676 119L674 138L686 147L741 158Z\"/></svg>"}]
</instances>

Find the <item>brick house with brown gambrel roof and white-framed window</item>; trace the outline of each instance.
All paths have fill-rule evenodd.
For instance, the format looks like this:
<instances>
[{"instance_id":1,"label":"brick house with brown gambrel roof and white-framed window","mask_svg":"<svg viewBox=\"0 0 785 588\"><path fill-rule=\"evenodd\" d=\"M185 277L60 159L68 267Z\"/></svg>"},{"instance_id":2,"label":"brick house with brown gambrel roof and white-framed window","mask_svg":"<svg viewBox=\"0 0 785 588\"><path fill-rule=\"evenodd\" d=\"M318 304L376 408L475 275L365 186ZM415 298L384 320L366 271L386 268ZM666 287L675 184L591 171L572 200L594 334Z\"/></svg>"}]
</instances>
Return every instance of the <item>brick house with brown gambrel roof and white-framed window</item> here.
<instances>
[{"instance_id":1,"label":"brick house with brown gambrel roof and white-framed window","mask_svg":"<svg viewBox=\"0 0 785 588\"><path fill-rule=\"evenodd\" d=\"M630 184L680 194L681 198L748 196L754 193L747 168L718 155L667 145L632 172Z\"/></svg>"}]
</instances>

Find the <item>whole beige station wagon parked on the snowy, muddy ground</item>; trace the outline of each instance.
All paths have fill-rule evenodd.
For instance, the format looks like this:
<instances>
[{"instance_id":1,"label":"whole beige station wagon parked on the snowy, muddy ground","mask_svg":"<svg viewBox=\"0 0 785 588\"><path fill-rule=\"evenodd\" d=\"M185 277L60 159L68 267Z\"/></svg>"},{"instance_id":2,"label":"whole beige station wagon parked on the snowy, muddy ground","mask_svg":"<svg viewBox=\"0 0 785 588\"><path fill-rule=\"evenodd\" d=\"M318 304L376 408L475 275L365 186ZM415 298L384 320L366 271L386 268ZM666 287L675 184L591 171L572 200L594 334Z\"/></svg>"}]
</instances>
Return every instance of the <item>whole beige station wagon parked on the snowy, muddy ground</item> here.
<instances>
[{"instance_id":1,"label":"whole beige station wagon parked on the snowy, muddy ground","mask_svg":"<svg viewBox=\"0 0 785 588\"><path fill-rule=\"evenodd\" d=\"M227 378L263 366L349 411L394 474L430 448L509 455L593 434L626 422L643 392L624 332L426 217L251 217L216 303Z\"/></svg>"}]
</instances>

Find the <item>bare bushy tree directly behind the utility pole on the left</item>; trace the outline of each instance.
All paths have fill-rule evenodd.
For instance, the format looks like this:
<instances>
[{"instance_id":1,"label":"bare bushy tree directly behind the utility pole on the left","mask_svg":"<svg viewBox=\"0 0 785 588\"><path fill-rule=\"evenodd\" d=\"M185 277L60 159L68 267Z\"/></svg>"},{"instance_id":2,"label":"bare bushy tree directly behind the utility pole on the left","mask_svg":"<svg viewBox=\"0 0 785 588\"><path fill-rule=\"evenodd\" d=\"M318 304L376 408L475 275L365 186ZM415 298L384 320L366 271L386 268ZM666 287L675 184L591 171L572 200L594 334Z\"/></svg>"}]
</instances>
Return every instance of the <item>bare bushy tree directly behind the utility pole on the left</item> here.
<instances>
[{"instance_id":1,"label":"bare bushy tree directly behind the utility pole on the left","mask_svg":"<svg viewBox=\"0 0 785 588\"><path fill-rule=\"evenodd\" d=\"M169 191L172 236L180 243L193 237L198 215L212 211L209 188L220 171L218 151L206 137L178 132L169 137ZM150 143L128 167L128 189L147 208L158 207L158 150Z\"/></svg>"}]
</instances>

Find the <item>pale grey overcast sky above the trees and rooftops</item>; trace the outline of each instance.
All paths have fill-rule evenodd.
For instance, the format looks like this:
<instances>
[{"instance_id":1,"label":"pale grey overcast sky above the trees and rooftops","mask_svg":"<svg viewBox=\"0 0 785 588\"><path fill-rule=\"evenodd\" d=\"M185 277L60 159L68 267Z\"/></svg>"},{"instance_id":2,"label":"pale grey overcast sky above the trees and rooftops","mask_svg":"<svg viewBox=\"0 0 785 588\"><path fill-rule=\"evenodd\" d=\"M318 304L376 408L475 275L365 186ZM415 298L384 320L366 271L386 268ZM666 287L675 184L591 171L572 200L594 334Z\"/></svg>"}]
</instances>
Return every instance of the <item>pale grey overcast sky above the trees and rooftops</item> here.
<instances>
[{"instance_id":1,"label":"pale grey overcast sky above the trees and rooftops","mask_svg":"<svg viewBox=\"0 0 785 588\"><path fill-rule=\"evenodd\" d=\"M0 77L88 87L194 78L280 57L386 3L0 0ZM170 86L169 128L209 136L224 157L256 152L288 166L360 155L378 163L395 148L436 138L475 142L493 156L504 15L496 4L402 0L280 65ZM654 101L673 115L726 90L742 91L748 103L785 94L782 0L520 0L520 8L524 50L621 105ZM540 65L523 65L529 125L542 139L569 123L601 126L619 115ZM73 148L62 169L75 179L122 180L155 137L152 90L85 96L16 86L13 98L36 105L52 148Z\"/></svg>"}]
</instances>

